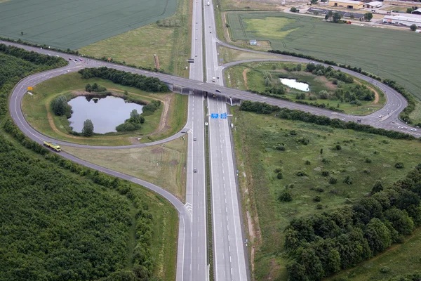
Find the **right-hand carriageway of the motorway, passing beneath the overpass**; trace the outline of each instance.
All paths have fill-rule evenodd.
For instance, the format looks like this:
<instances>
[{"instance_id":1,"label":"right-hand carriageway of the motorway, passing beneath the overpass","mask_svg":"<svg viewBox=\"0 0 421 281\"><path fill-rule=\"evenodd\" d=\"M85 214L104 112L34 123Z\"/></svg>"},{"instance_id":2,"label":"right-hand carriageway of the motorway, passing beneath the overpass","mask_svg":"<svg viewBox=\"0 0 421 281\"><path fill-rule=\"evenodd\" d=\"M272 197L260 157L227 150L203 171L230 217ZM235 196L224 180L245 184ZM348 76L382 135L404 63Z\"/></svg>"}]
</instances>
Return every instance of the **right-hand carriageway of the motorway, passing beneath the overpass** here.
<instances>
[{"instance_id":1,"label":"right-hand carriageway of the motorway, passing beneath the overpass","mask_svg":"<svg viewBox=\"0 0 421 281\"><path fill-rule=\"evenodd\" d=\"M218 74L218 48L213 2L205 6L206 79L218 90L223 85ZM214 79L215 78L215 79ZM212 93L215 93L213 91ZM208 114L227 113L225 96L208 95ZM227 119L208 117L210 185L213 221L215 281L247 281L248 258L238 197L231 133Z\"/></svg>"}]
</instances>

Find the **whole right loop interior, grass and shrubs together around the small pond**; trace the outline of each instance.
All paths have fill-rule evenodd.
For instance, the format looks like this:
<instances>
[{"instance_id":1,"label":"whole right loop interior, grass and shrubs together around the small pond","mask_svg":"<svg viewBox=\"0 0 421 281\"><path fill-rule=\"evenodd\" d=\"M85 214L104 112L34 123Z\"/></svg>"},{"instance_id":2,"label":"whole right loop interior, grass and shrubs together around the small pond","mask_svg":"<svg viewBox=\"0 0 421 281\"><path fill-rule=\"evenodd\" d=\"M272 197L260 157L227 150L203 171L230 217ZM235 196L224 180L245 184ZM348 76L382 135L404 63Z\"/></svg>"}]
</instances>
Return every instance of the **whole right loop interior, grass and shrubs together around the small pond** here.
<instances>
[{"instance_id":1,"label":"whole right loop interior, grass and shrubs together around the small pond","mask_svg":"<svg viewBox=\"0 0 421 281\"><path fill-rule=\"evenodd\" d=\"M309 66L314 67L313 65ZM326 77L327 74L312 74L312 72L305 70L305 64L297 63L243 63L226 70L225 81L227 81L228 86L233 88L260 93L266 93L273 89L283 89L284 93L278 95L280 98L318 105L325 104L326 107L334 107L353 115L370 114L380 109L386 102L384 93L366 81L345 75L344 77L349 78L350 81L353 79L352 83L345 83L333 77ZM307 84L308 91L283 85L280 80L282 78L295 79L302 83L302 86ZM367 87L365 91L370 93L371 96L355 98L357 91L362 93L362 85ZM350 93L349 97L354 95L354 98L346 98L346 92Z\"/></svg>"}]
</instances>

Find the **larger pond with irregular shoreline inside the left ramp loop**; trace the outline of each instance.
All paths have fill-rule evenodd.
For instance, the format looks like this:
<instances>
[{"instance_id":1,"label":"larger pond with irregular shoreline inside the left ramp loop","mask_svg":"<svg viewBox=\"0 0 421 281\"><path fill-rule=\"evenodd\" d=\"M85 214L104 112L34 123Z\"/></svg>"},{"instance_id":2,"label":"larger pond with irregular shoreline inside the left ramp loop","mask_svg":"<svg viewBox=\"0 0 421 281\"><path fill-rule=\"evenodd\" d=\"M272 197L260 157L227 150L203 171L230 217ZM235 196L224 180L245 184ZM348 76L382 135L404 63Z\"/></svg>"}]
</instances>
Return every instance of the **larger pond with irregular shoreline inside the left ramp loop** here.
<instances>
[{"instance_id":1,"label":"larger pond with irregular shoreline inside the left ramp loop","mask_svg":"<svg viewBox=\"0 0 421 281\"><path fill-rule=\"evenodd\" d=\"M78 96L69 101L73 114L69 118L73 131L81 133L83 122L91 119L95 133L115 132L116 126L130 118L132 110L142 113L142 105L126 103L123 98L107 96L105 98L92 98Z\"/></svg>"}]
</instances>

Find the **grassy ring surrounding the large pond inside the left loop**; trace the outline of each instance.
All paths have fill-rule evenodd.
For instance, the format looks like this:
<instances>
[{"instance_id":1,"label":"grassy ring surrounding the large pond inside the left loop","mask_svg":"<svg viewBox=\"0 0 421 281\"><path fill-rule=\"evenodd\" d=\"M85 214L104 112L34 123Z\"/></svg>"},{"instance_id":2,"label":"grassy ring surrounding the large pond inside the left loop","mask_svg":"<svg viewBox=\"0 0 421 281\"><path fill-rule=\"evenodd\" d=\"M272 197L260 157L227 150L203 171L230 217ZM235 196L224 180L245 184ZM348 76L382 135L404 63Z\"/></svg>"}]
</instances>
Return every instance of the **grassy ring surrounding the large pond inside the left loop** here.
<instances>
[{"instance_id":1,"label":"grassy ring surrounding the large pond inside the left loop","mask_svg":"<svg viewBox=\"0 0 421 281\"><path fill-rule=\"evenodd\" d=\"M164 116L166 124L162 130L157 130L161 121L164 104L161 103L158 110L152 115L145 117L145 123L142 124L140 131L131 133L109 133L107 135L95 135L91 138L82 136L72 136L67 133L66 127L69 126L66 117L57 117L51 111L50 103L55 96L60 94L72 93L73 91L84 91L86 84L97 82L105 86L107 90L122 94L128 91L128 97L135 100L150 101L152 99L162 100L163 103L169 103L168 115ZM128 145L136 143L140 136L149 136L142 138L143 142L165 138L176 131L180 131L185 125L187 119L187 96L181 96L173 93L147 93L139 89L114 84L111 81L103 79L81 79L79 73L65 74L53 79L48 79L34 87L33 95L26 95L22 100L22 110L26 114L27 121L37 131L45 133L52 138L81 143L88 145ZM173 106L178 106L175 110ZM128 116L129 117L129 116ZM154 131L158 136L153 136Z\"/></svg>"}]
</instances>

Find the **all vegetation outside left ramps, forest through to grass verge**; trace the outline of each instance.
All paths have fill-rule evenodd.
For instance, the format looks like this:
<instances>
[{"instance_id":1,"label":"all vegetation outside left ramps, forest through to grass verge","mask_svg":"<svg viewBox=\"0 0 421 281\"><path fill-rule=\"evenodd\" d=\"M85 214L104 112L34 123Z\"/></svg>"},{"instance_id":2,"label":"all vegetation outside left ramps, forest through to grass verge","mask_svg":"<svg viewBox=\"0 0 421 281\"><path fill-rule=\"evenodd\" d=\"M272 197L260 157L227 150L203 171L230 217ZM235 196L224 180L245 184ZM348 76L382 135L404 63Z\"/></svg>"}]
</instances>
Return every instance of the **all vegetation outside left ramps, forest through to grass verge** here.
<instances>
[{"instance_id":1,"label":"all vegetation outside left ramps, forest through to grass verge","mask_svg":"<svg viewBox=\"0 0 421 281\"><path fill-rule=\"evenodd\" d=\"M7 116L11 89L30 73L66 62L12 53L0 54L8 66L0 70L0 200L6 207L0 280L175 280L178 216L171 204L25 137Z\"/></svg>"}]
</instances>

